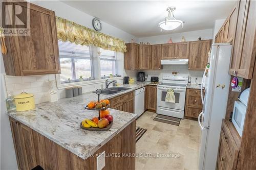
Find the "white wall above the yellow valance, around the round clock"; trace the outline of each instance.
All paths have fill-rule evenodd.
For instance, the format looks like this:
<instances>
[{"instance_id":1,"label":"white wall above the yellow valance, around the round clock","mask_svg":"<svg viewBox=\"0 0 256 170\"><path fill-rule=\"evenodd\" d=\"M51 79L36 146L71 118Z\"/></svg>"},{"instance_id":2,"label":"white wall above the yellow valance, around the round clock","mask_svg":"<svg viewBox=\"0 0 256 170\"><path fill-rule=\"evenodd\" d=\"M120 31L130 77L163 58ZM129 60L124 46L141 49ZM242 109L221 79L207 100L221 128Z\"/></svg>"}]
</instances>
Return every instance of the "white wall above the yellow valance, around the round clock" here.
<instances>
[{"instance_id":1,"label":"white wall above the yellow valance, around the round clock","mask_svg":"<svg viewBox=\"0 0 256 170\"><path fill-rule=\"evenodd\" d=\"M33 1L33 0L31 1L31 3L55 11L56 16L71 20L82 26L86 26L87 28L93 29L93 26L92 26L92 20L94 18L93 16L88 15L84 12L81 12L67 4L64 4L59 1ZM138 41L138 38L135 37L134 35L126 33L103 21L102 21L102 30L100 32L104 34L108 34L115 38L120 38L125 42L130 42L132 39L134 39L135 42Z\"/></svg>"}]
</instances>

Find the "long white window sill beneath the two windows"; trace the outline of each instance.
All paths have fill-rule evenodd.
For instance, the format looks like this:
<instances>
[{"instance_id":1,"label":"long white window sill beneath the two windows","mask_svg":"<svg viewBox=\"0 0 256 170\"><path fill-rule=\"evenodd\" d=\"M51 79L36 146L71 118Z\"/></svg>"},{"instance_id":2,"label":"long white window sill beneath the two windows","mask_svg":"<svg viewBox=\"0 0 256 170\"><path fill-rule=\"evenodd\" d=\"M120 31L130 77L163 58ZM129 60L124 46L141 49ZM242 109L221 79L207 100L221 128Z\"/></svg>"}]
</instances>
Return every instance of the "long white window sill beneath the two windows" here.
<instances>
[{"instance_id":1,"label":"long white window sill beneath the two windows","mask_svg":"<svg viewBox=\"0 0 256 170\"><path fill-rule=\"evenodd\" d=\"M58 79L56 77L56 79ZM123 77L113 77L108 78L109 80L123 80ZM91 84L98 84L98 83L104 83L106 79L99 79L99 80L88 80L88 81L82 81L82 82L71 82L71 83L59 83L57 82L57 88L58 89L65 89L68 87L74 87L74 86L86 86Z\"/></svg>"}]
</instances>

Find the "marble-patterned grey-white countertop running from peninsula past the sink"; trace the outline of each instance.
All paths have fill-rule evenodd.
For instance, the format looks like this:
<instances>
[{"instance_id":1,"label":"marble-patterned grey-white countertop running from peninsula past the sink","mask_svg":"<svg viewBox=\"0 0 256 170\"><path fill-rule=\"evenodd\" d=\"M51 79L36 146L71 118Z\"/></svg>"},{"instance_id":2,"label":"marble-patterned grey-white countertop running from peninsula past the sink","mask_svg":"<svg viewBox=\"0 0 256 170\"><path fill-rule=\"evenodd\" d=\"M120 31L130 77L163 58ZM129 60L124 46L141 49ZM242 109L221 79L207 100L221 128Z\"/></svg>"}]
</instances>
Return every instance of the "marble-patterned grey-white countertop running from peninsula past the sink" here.
<instances>
[{"instance_id":1,"label":"marble-patterned grey-white countertop running from peninsula past the sink","mask_svg":"<svg viewBox=\"0 0 256 170\"><path fill-rule=\"evenodd\" d=\"M100 95L100 99L110 99L146 85L151 82L135 82L124 84L120 87L131 89L115 95ZM136 114L109 109L114 117L113 126L109 131L88 131L79 127L84 118L98 116L97 111L85 110L83 107L90 101L96 101L97 95L92 92L84 93L74 98L63 98L57 102L46 102L36 105L35 109L7 114L20 123L61 145L63 148L87 159L102 145L111 140L116 134L131 124L137 117Z\"/></svg>"}]
</instances>

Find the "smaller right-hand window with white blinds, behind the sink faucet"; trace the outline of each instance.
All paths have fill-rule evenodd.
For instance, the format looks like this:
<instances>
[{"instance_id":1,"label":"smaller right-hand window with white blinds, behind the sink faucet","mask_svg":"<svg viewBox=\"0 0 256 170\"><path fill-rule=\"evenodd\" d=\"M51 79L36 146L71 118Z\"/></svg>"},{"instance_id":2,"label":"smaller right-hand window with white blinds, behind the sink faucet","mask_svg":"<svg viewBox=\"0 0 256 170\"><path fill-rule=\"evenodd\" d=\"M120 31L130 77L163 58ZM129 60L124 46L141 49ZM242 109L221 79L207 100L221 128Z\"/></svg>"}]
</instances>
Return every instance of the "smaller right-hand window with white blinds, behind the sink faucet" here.
<instances>
[{"instance_id":1,"label":"smaller right-hand window with white blinds, behind the sink faucet","mask_svg":"<svg viewBox=\"0 0 256 170\"><path fill-rule=\"evenodd\" d=\"M100 48L100 76L110 77L116 75L116 56L114 51Z\"/></svg>"}]
</instances>

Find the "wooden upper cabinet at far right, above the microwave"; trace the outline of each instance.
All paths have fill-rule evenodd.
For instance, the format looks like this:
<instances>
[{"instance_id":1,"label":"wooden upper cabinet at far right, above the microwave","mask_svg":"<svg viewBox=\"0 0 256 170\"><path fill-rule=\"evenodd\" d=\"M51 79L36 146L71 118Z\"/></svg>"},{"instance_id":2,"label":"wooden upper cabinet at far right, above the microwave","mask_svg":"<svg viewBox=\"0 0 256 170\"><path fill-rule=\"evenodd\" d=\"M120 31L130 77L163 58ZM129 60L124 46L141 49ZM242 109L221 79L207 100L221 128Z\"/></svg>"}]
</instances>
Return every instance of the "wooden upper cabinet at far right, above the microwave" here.
<instances>
[{"instance_id":1,"label":"wooden upper cabinet at far right, above the microwave","mask_svg":"<svg viewBox=\"0 0 256 170\"><path fill-rule=\"evenodd\" d=\"M256 2L239 1L236 35L229 74L252 79L256 55Z\"/></svg>"}]
</instances>

